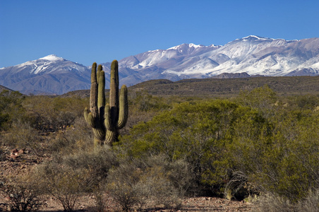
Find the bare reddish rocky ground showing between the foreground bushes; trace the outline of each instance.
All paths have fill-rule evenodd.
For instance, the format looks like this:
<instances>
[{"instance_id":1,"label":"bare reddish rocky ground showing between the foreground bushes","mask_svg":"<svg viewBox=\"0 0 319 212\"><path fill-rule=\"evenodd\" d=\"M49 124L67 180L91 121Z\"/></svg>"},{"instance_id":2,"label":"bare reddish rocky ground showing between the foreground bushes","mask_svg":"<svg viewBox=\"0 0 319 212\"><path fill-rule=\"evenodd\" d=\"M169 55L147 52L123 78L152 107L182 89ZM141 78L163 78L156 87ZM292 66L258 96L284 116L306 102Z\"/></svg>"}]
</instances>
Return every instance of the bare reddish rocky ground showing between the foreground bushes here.
<instances>
[{"instance_id":1,"label":"bare reddish rocky ground showing between the foreground bushes","mask_svg":"<svg viewBox=\"0 0 319 212\"><path fill-rule=\"evenodd\" d=\"M4 156L4 155L2 155ZM39 158L33 155L30 151L11 150L5 155L5 158L0 161L0 184L8 176L23 175L28 172L33 166L41 163L46 158ZM8 201L10 197L0 195L0 211L9 211ZM119 205L107 194L104 196L104 201L107 203L104 211L119 211ZM77 206L78 211L97 211L95 196L82 196L80 204ZM51 196L42 196L43 206L40 211L64 211L59 201ZM148 208L146 211L251 211L253 205L244 201L229 201L217 197L199 196L183 199L181 208L172 210L167 208Z\"/></svg>"}]
</instances>

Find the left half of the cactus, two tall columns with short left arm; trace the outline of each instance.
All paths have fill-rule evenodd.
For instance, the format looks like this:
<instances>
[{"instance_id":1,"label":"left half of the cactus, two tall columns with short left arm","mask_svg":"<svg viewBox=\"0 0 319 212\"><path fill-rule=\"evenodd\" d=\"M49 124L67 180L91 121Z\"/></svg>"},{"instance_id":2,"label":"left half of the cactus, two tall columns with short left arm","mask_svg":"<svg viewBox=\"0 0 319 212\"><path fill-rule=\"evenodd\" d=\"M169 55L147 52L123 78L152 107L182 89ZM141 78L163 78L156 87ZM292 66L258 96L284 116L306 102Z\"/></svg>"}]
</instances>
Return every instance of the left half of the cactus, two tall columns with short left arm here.
<instances>
[{"instance_id":1,"label":"left half of the cactus, two tall columns with short left arm","mask_svg":"<svg viewBox=\"0 0 319 212\"><path fill-rule=\"evenodd\" d=\"M90 110L85 107L84 117L86 122L93 129L94 146L101 146L105 140L106 128L104 124L105 107L105 75L102 66L92 64L91 71L91 90L90 90Z\"/></svg>"}]
</instances>

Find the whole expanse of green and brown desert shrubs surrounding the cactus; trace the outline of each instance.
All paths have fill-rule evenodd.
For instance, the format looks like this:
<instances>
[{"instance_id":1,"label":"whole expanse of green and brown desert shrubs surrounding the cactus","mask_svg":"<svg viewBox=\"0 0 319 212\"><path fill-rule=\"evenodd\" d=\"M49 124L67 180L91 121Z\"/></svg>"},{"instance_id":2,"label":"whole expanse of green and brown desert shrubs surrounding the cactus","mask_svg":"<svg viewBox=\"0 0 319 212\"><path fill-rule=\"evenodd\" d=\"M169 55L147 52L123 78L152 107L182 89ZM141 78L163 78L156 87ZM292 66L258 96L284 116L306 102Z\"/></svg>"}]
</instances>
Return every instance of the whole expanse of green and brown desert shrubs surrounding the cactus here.
<instances>
[{"instance_id":1,"label":"whole expanse of green and brown desert shrubs surrounding the cactus","mask_svg":"<svg viewBox=\"0 0 319 212\"><path fill-rule=\"evenodd\" d=\"M131 113L119 142L94 150L83 119L88 99L1 93L0 144L51 155L28 182L38 190L19 181L2 189L36 194L31 206L20 199L12 206L37 208L41 190L66 211L76 210L83 194L94 194L96 210L103 211L105 193L123 211L179 208L182 196L203 193L260 195L258 210L315 211L319 97L279 97L267 86L232 99L129 97Z\"/></svg>"}]
</instances>

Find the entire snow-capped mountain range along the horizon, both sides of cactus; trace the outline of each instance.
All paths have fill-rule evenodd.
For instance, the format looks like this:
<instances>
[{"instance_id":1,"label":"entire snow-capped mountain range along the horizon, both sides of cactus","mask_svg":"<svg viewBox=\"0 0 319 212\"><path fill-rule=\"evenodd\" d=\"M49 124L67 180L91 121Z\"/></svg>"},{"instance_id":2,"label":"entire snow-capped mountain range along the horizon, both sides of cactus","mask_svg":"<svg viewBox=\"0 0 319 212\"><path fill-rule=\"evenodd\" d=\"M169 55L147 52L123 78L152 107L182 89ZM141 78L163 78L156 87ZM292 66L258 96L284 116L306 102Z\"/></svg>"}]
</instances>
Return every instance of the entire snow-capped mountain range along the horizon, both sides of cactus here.
<instances>
[{"instance_id":1,"label":"entire snow-capped mountain range along the horizon, both sides of cactus","mask_svg":"<svg viewBox=\"0 0 319 212\"><path fill-rule=\"evenodd\" d=\"M102 65L109 88L110 63ZM245 72L262 76L319 75L319 38L284 40L250 35L223 46L182 44L119 60L120 83L127 86L159 78L178 81ZM89 89L90 67L49 55L0 69L0 85L23 93L40 90L61 94Z\"/></svg>"}]
</instances>

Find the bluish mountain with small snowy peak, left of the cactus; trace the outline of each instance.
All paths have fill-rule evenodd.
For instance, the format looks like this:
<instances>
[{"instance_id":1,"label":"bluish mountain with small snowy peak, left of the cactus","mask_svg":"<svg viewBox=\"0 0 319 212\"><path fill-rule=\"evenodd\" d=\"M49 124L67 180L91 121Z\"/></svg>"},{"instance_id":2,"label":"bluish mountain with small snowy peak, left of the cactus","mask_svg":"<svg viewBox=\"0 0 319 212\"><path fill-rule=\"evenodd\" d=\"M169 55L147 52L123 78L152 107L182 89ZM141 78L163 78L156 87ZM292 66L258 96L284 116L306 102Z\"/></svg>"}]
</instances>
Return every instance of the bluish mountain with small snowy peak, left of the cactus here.
<instances>
[{"instance_id":1,"label":"bluish mountain with small snowy peak, left of the cactus","mask_svg":"<svg viewBox=\"0 0 319 212\"><path fill-rule=\"evenodd\" d=\"M0 69L0 84L25 94L62 94L89 89L90 70L52 54Z\"/></svg>"}]
</instances>

